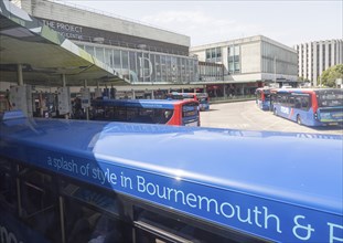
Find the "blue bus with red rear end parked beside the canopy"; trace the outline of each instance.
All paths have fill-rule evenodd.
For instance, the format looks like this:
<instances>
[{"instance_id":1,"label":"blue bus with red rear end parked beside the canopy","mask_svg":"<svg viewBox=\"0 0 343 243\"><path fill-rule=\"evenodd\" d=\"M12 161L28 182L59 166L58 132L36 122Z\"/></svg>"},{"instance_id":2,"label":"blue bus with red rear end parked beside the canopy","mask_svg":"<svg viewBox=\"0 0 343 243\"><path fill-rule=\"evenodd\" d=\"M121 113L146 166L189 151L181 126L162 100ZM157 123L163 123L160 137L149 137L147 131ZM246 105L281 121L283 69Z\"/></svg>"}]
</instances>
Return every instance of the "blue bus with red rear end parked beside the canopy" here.
<instances>
[{"instance_id":1,"label":"blue bus with red rear end parked beside the canopy","mask_svg":"<svg viewBox=\"0 0 343 243\"><path fill-rule=\"evenodd\" d=\"M94 99L92 119L200 126L196 101Z\"/></svg>"}]
</instances>

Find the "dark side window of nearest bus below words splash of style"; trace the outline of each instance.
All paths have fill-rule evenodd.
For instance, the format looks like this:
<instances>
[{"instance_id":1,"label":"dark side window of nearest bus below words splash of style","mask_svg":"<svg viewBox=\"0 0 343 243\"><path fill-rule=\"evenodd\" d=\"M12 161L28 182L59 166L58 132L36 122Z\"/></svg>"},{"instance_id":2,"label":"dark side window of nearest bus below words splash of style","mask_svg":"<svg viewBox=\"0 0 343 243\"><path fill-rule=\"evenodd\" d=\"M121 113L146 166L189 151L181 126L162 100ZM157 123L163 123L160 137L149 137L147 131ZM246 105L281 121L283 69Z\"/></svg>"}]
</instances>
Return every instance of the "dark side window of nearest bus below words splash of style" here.
<instances>
[{"instance_id":1,"label":"dark side window of nearest bus below words splash of style","mask_svg":"<svg viewBox=\"0 0 343 243\"><path fill-rule=\"evenodd\" d=\"M122 203L116 193L109 197L65 182L66 242L131 242L130 229L119 220Z\"/></svg>"}]
</instances>

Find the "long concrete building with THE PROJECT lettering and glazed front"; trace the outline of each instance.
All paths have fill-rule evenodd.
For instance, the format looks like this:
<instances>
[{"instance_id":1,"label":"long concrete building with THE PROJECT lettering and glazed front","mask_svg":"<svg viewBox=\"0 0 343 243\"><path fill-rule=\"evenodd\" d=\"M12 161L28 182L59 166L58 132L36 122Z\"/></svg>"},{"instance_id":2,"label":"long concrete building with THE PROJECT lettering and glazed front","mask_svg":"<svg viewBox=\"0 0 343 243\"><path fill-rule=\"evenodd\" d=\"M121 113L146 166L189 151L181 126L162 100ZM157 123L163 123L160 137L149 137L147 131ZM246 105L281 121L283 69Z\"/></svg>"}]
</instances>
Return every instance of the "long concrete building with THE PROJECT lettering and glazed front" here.
<instances>
[{"instance_id":1,"label":"long concrete building with THE PROJECT lettering and glazed front","mask_svg":"<svg viewBox=\"0 0 343 243\"><path fill-rule=\"evenodd\" d=\"M197 60L189 55L190 36L63 1L12 2L125 77L128 85L116 86L119 96L126 92L129 97L153 97L152 91L203 87Z\"/></svg>"}]
</instances>

